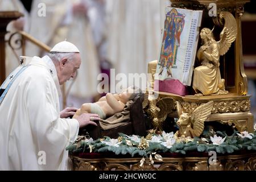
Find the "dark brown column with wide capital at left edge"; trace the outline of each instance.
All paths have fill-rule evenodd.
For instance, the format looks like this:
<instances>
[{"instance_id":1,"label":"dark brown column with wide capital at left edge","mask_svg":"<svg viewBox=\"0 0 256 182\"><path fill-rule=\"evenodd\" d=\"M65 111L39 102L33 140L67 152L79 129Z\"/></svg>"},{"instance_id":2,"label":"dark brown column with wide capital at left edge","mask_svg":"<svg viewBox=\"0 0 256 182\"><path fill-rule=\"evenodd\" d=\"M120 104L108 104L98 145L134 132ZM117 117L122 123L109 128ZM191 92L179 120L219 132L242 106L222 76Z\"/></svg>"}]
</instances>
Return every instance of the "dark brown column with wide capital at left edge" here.
<instances>
[{"instance_id":1,"label":"dark brown column with wide capital at left edge","mask_svg":"<svg viewBox=\"0 0 256 182\"><path fill-rule=\"evenodd\" d=\"M18 11L0 11L0 85L5 81L5 34L6 27L11 20L18 19L23 16Z\"/></svg>"}]
</instances>

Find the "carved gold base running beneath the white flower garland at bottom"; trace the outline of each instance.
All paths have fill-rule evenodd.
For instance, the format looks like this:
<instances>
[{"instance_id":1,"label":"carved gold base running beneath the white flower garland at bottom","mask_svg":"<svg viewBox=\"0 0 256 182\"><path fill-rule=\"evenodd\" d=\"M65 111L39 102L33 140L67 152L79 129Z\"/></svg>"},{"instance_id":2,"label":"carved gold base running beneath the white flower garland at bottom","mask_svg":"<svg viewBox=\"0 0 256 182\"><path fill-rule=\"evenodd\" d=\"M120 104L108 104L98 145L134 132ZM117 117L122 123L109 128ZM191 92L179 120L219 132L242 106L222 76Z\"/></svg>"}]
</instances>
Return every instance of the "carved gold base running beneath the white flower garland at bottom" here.
<instances>
[{"instance_id":1,"label":"carved gold base running beneath the white flower garland at bottom","mask_svg":"<svg viewBox=\"0 0 256 182\"><path fill-rule=\"evenodd\" d=\"M154 165L144 163L141 158L82 159L71 156L75 171L255 171L256 153L226 155L217 157L216 162L208 162L208 157L163 158Z\"/></svg>"}]
</instances>

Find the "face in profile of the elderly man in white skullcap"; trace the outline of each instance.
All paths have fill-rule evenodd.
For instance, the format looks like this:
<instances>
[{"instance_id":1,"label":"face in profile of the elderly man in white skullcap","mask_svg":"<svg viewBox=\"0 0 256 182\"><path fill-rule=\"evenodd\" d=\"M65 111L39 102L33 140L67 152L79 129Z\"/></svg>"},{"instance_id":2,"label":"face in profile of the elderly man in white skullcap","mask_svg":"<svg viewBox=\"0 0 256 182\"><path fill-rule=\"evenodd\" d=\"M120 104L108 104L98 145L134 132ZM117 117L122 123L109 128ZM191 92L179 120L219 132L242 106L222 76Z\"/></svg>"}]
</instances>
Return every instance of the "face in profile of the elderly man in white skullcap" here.
<instances>
[{"instance_id":1,"label":"face in profile of the elderly man in white skullcap","mask_svg":"<svg viewBox=\"0 0 256 182\"><path fill-rule=\"evenodd\" d=\"M60 74L58 75L60 85L68 81L70 78L76 77L77 69L81 65L80 53L73 56L73 60L62 59L60 61Z\"/></svg>"}]
</instances>

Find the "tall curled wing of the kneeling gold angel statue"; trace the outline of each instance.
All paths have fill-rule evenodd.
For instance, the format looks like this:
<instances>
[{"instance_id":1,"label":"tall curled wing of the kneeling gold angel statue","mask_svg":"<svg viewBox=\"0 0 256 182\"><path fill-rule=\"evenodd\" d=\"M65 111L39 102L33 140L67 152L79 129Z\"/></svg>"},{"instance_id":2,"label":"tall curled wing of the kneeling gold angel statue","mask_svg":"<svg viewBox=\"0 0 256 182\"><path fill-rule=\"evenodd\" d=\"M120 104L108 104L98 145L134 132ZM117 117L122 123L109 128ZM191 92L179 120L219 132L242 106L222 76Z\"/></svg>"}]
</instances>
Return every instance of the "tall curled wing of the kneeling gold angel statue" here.
<instances>
[{"instance_id":1,"label":"tall curled wing of the kneeling gold angel statue","mask_svg":"<svg viewBox=\"0 0 256 182\"><path fill-rule=\"evenodd\" d=\"M237 22L234 16L228 11L222 11L219 16L220 19L225 20L224 28L220 34L220 41L218 42L220 55L223 56L228 52L231 44L237 38Z\"/></svg>"}]
</instances>

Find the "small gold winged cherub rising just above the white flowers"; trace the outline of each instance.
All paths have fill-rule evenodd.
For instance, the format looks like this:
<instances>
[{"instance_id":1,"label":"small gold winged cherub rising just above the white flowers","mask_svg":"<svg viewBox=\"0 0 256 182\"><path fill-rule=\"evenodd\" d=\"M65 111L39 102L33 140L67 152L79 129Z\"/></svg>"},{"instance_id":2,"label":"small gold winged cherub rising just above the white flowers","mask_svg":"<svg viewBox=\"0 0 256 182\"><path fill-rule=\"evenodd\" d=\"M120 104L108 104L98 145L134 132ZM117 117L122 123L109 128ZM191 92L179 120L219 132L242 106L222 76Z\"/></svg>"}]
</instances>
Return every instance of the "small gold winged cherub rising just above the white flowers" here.
<instances>
[{"instance_id":1,"label":"small gold winged cherub rising just above the white flowers","mask_svg":"<svg viewBox=\"0 0 256 182\"><path fill-rule=\"evenodd\" d=\"M197 107L191 114L184 113L180 102L177 101L177 113L179 120L176 122L179 131L177 137L199 137L204 130L204 122L212 113L213 101L207 102Z\"/></svg>"}]
</instances>

